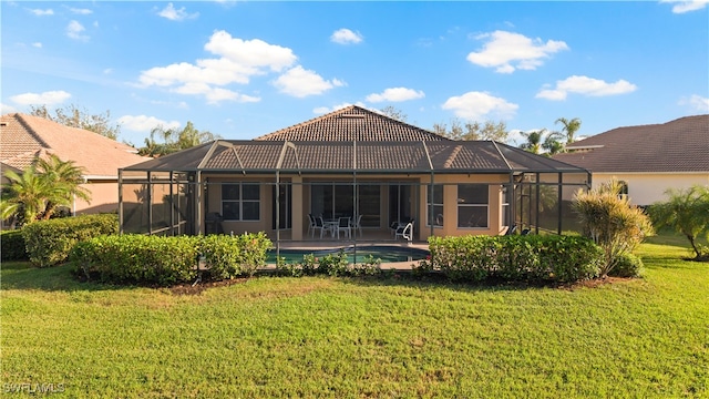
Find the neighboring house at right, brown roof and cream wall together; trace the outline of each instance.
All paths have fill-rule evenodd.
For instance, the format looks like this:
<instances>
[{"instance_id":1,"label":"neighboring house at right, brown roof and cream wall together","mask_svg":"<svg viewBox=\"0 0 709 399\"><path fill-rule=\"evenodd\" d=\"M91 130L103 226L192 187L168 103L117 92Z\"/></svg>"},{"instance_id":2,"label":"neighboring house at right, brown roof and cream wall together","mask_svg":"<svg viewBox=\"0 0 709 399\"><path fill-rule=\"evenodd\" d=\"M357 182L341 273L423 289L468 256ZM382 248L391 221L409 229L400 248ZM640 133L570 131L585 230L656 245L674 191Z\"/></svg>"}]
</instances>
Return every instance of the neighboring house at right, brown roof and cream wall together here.
<instances>
[{"instance_id":1,"label":"neighboring house at right, brown roof and cream wall together","mask_svg":"<svg viewBox=\"0 0 709 399\"><path fill-rule=\"evenodd\" d=\"M636 205L667 200L668 188L709 185L709 115L610 130L578 141L554 160L585 167L593 187L616 178Z\"/></svg>"}]
</instances>

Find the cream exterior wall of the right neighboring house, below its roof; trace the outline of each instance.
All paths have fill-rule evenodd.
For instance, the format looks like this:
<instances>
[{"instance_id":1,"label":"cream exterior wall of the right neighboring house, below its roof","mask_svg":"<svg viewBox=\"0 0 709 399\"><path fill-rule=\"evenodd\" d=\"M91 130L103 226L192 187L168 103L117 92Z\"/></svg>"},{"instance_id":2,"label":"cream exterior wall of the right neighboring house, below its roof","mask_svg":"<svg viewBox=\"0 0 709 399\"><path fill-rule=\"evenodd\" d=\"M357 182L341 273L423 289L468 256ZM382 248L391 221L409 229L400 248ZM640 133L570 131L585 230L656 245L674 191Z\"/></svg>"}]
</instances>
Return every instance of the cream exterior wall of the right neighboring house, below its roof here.
<instances>
[{"instance_id":1,"label":"cream exterior wall of the right neighboring house, below its roof","mask_svg":"<svg viewBox=\"0 0 709 399\"><path fill-rule=\"evenodd\" d=\"M628 185L628 197L635 205L647 206L666 201L668 188L684 190L692 185L709 185L707 173L594 173L593 188L616 178Z\"/></svg>"}]
</instances>

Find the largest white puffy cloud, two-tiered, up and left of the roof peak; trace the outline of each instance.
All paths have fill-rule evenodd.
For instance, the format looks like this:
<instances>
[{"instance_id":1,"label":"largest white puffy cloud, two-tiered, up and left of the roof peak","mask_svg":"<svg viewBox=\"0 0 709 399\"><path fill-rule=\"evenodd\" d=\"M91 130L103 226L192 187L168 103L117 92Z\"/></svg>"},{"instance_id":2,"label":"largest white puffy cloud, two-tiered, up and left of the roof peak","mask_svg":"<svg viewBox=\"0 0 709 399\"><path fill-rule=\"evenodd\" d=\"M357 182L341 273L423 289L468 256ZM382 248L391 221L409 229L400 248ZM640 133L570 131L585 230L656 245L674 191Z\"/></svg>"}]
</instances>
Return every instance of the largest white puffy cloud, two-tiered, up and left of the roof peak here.
<instances>
[{"instance_id":1,"label":"largest white puffy cloud, two-tiered, up and left of the roof peak","mask_svg":"<svg viewBox=\"0 0 709 399\"><path fill-rule=\"evenodd\" d=\"M209 103L255 102L260 99L220 86L233 83L247 84L251 76L281 71L297 60L292 50L288 48L258 39L232 38L225 31L216 31L204 48L218 58L152 68L141 73L141 85L168 88L182 94L205 95Z\"/></svg>"}]
</instances>

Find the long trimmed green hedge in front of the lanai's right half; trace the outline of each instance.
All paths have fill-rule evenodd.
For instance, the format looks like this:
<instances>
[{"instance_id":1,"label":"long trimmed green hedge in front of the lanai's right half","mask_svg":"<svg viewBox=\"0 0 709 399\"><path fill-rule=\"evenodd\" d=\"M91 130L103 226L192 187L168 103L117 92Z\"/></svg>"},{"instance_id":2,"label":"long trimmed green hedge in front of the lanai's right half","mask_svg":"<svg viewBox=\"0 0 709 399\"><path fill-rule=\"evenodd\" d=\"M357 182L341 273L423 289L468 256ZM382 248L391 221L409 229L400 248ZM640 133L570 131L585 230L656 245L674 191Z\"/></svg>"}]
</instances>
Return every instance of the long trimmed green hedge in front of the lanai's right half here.
<instances>
[{"instance_id":1,"label":"long trimmed green hedge in front of the lanai's right half","mask_svg":"<svg viewBox=\"0 0 709 399\"><path fill-rule=\"evenodd\" d=\"M571 283L597 277L603 264L602 248L578 236L430 237L429 249L422 268L452 280Z\"/></svg>"}]
</instances>

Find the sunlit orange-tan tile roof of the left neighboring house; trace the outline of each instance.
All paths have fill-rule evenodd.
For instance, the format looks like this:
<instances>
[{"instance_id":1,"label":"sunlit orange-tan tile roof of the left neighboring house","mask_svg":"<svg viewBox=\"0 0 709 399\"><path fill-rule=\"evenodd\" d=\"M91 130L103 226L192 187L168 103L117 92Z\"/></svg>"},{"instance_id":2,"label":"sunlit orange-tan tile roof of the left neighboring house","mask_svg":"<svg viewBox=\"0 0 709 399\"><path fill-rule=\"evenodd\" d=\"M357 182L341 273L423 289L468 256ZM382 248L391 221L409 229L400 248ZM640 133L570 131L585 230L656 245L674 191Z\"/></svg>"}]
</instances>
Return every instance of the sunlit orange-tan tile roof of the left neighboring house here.
<instances>
[{"instance_id":1,"label":"sunlit orange-tan tile roof of the left neighboring house","mask_svg":"<svg viewBox=\"0 0 709 399\"><path fill-rule=\"evenodd\" d=\"M82 129L20 113L0 117L0 162L24 170L39 156L74 161L89 176L117 176L117 170L150 160L130 145Z\"/></svg>"}]
</instances>

